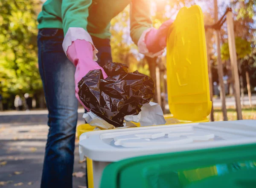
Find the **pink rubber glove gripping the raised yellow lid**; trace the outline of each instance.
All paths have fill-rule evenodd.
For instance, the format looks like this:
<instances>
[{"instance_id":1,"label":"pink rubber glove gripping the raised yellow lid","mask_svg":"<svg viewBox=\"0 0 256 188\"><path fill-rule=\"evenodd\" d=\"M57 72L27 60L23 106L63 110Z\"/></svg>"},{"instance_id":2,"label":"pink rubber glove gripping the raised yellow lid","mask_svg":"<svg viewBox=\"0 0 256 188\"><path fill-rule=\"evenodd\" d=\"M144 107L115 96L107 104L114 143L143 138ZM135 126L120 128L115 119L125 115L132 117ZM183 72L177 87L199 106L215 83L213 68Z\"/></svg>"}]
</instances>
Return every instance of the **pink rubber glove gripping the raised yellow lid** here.
<instances>
[{"instance_id":1,"label":"pink rubber glove gripping the raised yellow lid","mask_svg":"<svg viewBox=\"0 0 256 188\"><path fill-rule=\"evenodd\" d=\"M168 30L172 26L173 20L167 20L164 22L159 29L152 28L145 35L145 44L148 52L157 53L166 47L166 37Z\"/></svg>"}]
</instances>

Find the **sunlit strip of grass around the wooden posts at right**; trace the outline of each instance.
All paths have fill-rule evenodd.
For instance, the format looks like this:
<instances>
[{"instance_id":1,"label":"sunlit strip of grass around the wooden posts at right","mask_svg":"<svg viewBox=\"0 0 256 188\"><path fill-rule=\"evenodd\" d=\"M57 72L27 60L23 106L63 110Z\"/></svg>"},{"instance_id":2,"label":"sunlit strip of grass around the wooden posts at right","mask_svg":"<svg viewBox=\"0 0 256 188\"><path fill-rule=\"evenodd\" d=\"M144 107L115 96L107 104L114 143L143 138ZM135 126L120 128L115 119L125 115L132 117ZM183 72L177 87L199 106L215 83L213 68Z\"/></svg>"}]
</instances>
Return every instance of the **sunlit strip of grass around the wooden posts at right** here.
<instances>
[{"instance_id":1,"label":"sunlit strip of grass around the wooden posts at right","mask_svg":"<svg viewBox=\"0 0 256 188\"><path fill-rule=\"evenodd\" d=\"M242 116L243 116L243 119L256 119L256 106L243 107ZM236 109L234 107L227 109L227 119L229 121L237 120ZM223 120L221 108L214 109L214 120L215 121Z\"/></svg>"}]
</instances>

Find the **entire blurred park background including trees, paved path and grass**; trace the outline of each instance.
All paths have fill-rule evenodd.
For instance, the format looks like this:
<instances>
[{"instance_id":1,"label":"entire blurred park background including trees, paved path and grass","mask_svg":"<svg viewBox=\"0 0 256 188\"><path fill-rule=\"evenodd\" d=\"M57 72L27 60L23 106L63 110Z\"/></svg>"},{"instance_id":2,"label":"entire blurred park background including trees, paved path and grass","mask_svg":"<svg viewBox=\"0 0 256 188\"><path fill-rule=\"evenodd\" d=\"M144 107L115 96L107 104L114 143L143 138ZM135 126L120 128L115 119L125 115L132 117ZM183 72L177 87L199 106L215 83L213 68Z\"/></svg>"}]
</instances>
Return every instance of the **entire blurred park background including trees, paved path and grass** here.
<instances>
[{"instance_id":1,"label":"entire blurred park background including trees, paved path and grass","mask_svg":"<svg viewBox=\"0 0 256 188\"><path fill-rule=\"evenodd\" d=\"M5 188L40 187L49 129L37 57L36 20L43 3L44 0L0 0L0 186ZM183 6L201 6L208 26L208 71L213 101L209 119L256 119L256 0L148 0L148 3L156 28L170 18L175 19ZM212 29L227 7L232 8L231 21L234 20L236 78L228 45L230 22L221 22L218 32ZM159 58L138 53L130 38L129 24L128 6L111 21L113 61L127 64L129 71L150 75L156 83L154 101L164 113L170 113L166 53ZM238 95L234 88L239 88ZM78 124L83 124L84 109L80 107L78 113ZM86 188L85 168L85 161L79 161L76 139L74 188Z\"/></svg>"}]
</instances>

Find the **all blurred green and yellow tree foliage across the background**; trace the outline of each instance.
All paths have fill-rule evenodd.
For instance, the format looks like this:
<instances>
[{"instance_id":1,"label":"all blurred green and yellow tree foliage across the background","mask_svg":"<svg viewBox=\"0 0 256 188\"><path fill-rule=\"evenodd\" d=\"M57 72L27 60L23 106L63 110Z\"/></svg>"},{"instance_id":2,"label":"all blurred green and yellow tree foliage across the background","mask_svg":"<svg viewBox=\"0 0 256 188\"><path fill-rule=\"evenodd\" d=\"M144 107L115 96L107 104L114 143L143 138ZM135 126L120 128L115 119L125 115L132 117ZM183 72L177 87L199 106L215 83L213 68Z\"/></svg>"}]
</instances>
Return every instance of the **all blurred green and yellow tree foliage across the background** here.
<instances>
[{"instance_id":1,"label":"all blurred green and yellow tree foliage across the background","mask_svg":"<svg viewBox=\"0 0 256 188\"><path fill-rule=\"evenodd\" d=\"M153 0L153 26L172 17L183 6L204 2L205 24L213 23L213 1L209 0ZM253 36L256 0L233 0L233 13L236 17L236 51L240 59L248 59L256 67L255 46L250 44ZM41 0L0 0L0 93L4 98L11 95L38 93L42 84L37 65L37 14L41 9ZM224 8L223 8L224 9ZM221 6L219 6L221 10ZM221 11L220 11L221 12ZM129 28L129 6L111 21L111 48L113 61L125 63L129 71L139 70L149 75L148 63L139 55L137 46L131 42ZM212 61L215 61L214 33L210 31ZM227 40L224 27L221 30L223 42ZM253 51L253 53L250 53ZM229 58L228 44L221 48L223 59ZM250 55L249 55L250 54ZM150 67L152 68L152 67ZM154 69L154 68L153 68ZM255 74L254 74L255 75ZM250 75L253 77L253 74ZM255 75L256 79L256 75ZM253 83L253 82L251 82Z\"/></svg>"}]
</instances>

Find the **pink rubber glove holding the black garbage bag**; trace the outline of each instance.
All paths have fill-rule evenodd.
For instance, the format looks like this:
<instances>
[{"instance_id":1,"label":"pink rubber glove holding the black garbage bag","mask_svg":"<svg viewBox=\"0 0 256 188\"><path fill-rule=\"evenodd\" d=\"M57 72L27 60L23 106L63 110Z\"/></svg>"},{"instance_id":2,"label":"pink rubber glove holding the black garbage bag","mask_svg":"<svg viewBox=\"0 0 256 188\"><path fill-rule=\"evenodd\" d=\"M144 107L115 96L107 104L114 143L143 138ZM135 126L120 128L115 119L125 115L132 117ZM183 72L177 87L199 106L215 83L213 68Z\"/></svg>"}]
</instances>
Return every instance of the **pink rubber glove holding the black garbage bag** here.
<instances>
[{"instance_id":1,"label":"pink rubber glove holding the black garbage bag","mask_svg":"<svg viewBox=\"0 0 256 188\"><path fill-rule=\"evenodd\" d=\"M75 84L76 84L76 98L83 105L83 107L89 112L89 109L79 99L79 81L90 71L101 69L104 79L107 78L107 74L95 61L93 61L93 45L86 40L75 40L71 46L67 49L67 57L75 65Z\"/></svg>"}]
</instances>

